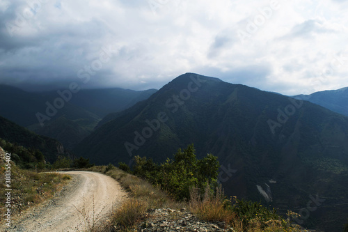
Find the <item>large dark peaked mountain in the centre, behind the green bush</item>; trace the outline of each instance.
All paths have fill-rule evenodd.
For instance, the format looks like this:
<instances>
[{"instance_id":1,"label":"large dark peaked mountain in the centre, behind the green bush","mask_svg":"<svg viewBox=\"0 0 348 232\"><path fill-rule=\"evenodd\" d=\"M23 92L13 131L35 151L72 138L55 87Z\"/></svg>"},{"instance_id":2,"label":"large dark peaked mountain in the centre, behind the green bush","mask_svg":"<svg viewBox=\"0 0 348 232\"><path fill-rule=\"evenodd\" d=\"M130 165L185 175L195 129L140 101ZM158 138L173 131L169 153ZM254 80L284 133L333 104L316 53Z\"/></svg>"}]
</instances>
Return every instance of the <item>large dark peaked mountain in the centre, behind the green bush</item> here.
<instances>
[{"instance_id":1,"label":"large dark peaked mountain in the centre, behind the green bush","mask_svg":"<svg viewBox=\"0 0 348 232\"><path fill-rule=\"evenodd\" d=\"M310 102L187 73L121 111L74 150L97 164L163 162L193 143L219 157L226 194L339 231L348 213L348 118Z\"/></svg>"}]
</instances>

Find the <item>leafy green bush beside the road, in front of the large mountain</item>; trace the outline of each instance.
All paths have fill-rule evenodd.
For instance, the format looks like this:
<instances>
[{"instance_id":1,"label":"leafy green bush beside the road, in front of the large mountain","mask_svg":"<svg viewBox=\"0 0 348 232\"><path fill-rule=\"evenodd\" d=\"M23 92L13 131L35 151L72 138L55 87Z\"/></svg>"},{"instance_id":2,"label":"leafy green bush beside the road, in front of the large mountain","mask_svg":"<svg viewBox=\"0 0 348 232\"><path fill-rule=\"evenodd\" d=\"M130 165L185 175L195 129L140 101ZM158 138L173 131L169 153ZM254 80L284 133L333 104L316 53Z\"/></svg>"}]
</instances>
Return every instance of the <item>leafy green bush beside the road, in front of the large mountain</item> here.
<instances>
[{"instance_id":1,"label":"leafy green bush beside the road, in front of the large mountain","mask_svg":"<svg viewBox=\"0 0 348 232\"><path fill-rule=\"evenodd\" d=\"M192 187L203 190L205 185L216 186L219 161L217 157L208 154L202 160L197 160L193 144L186 149L179 149L174 159L167 159L163 164L155 164L146 157L134 157L134 174L153 185L159 185L178 201L189 199Z\"/></svg>"}]
</instances>

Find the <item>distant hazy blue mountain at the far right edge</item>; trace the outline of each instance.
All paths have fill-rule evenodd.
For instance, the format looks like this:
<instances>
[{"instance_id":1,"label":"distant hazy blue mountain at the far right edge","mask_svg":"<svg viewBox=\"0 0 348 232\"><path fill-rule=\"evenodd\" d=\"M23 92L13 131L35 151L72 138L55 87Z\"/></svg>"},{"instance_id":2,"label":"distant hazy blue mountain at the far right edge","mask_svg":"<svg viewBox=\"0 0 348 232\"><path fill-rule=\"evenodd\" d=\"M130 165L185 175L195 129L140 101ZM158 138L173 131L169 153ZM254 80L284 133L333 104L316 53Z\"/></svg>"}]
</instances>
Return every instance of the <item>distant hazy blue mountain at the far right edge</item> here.
<instances>
[{"instance_id":1,"label":"distant hazy blue mountain at the far right edge","mask_svg":"<svg viewBox=\"0 0 348 232\"><path fill-rule=\"evenodd\" d=\"M315 92L310 95L296 95L294 98L308 100L309 102L348 116L348 87L338 90Z\"/></svg>"}]
</instances>

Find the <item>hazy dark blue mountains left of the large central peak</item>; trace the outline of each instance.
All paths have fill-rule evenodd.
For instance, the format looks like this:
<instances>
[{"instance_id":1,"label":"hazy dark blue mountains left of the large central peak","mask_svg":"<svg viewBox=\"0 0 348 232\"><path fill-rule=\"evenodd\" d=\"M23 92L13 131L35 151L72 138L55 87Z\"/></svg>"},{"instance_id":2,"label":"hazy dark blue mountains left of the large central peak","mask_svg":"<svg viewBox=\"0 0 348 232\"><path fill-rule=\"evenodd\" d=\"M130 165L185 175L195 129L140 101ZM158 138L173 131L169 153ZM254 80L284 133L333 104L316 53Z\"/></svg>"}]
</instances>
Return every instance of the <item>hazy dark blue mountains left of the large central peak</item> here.
<instances>
[{"instance_id":1,"label":"hazy dark blue mountains left of the large central peak","mask_svg":"<svg viewBox=\"0 0 348 232\"><path fill-rule=\"evenodd\" d=\"M106 114L126 109L155 91L106 88L29 93L0 85L0 115L72 149Z\"/></svg>"}]
</instances>

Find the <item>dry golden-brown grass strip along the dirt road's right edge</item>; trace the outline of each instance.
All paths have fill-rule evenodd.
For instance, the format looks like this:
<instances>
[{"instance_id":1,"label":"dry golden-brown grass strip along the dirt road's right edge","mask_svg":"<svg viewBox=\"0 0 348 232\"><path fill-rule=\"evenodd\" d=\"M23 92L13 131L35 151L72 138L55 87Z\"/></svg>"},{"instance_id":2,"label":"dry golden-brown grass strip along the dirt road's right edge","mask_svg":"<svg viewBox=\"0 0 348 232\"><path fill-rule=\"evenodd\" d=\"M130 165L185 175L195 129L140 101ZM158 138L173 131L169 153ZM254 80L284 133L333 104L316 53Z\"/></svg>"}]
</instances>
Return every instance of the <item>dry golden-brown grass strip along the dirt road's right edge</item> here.
<instances>
[{"instance_id":1,"label":"dry golden-brown grass strip along the dirt road's right edge","mask_svg":"<svg viewBox=\"0 0 348 232\"><path fill-rule=\"evenodd\" d=\"M113 226L119 231L132 231L143 219L147 217L147 211L155 208L180 209L187 207L198 218L212 222L226 222L226 227L232 227L236 232L299 232L296 226L290 226L286 220L269 220L267 226L262 225L262 218L255 218L245 223L237 217L232 210L232 203L226 199L224 192L219 187L213 194L209 187L206 188L203 197L198 189L191 190L189 203L177 202L168 194L152 186L145 180L126 173L117 168L106 169L106 166L92 167L88 171L98 171L118 180L120 185L130 194L130 198L120 208L113 212ZM284 224L287 226L284 227ZM228 227L228 228L230 228Z\"/></svg>"}]
</instances>

